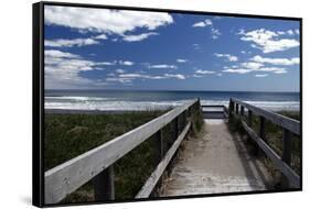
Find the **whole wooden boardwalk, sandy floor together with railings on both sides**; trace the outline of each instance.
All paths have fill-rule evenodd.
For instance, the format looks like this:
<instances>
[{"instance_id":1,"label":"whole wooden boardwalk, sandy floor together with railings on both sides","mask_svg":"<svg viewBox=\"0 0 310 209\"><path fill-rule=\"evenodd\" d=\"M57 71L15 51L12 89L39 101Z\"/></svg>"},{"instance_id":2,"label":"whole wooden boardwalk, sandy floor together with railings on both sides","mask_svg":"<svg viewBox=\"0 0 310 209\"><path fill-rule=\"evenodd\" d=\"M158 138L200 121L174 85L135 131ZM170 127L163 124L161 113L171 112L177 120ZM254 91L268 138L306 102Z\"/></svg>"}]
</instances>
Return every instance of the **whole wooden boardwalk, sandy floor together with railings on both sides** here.
<instances>
[{"instance_id":1,"label":"whole wooden boardwalk, sandy floor together with railings on both sides","mask_svg":"<svg viewBox=\"0 0 310 209\"><path fill-rule=\"evenodd\" d=\"M197 138L191 138L194 118L201 114L205 118L204 128ZM254 117L258 117L258 132L253 129ZM292 136L301 135L299 121L233 98L228 108L201 105L197 98L46 170L44 202L57 204L88 182L93 184L96 201L115 200L114 164L150 139L154 140L157 166L141 185L136 199L158 195L258 191L268 190L269 185L272 189L275 180L270 179L263 163L249 154L243 139L229 132L226 122L231 119L239 121L257 151L264 152L281 172L281 186L300 189L300 176L291 167ZM269 146L266 121L282 129L281 155ZM172 128L170 139L163 134L168 127ZM177 153L179 156L174 158ZM164 177L168 167L172 169L171 175Z\"/></svg>"}]
</instances>

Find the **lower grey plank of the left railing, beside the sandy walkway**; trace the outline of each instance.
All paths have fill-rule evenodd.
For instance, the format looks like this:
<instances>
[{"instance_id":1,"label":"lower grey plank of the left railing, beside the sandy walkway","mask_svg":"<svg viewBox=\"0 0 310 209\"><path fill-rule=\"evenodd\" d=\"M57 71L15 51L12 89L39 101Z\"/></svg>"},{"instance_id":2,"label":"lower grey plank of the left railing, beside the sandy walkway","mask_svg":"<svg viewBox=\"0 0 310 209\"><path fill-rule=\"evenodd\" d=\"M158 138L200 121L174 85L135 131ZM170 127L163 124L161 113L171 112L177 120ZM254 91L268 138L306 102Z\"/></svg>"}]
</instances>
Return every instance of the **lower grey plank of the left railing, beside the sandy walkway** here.
<instances>
[{"instance_id":1,"label":"lower grey plank of the left railing, beside the sandy walkway","mask_svg":"<svg viewBox=\"0 0 310 209\"><path fill-rule=\"evenodd\" d=\"M156 187L158 180L160 179L161 175L163 174L165 167L168 166L169 162L171 161L172 156L179 148L181 142L185 138L186 133L189 132L189 129L191 127L191 122L189 122L185 127L185 129L182 131L182 133L179 135L178 140L172 144L171 148L167 152L164 158L160 162L160 164L157 166L154 172L151 174L151 176L148 178L146 184L142 186L140 191L137 194L137 198L148 198L150 194L152 193L153 188Z\"/></svg>"}]
</instances>

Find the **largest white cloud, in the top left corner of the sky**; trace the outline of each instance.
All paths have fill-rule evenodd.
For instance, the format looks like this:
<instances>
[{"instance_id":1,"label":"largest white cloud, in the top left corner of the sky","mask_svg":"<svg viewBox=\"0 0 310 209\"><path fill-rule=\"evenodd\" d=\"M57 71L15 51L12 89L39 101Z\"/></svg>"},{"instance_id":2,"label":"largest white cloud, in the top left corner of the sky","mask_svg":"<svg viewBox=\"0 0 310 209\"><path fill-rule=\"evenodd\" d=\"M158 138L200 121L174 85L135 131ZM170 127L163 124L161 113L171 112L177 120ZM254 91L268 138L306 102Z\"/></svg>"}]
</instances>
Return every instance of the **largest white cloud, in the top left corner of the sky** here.
<instances>
[{"instance_id":1,"label":"largest white cloud, in the top left corner of the sky","mask_svg":"<svg viewBox=\"0 0 310 209\"><path fill-rule=\"evenodd\" d=\"M45 6L46 24L122 35L136 29L156 30L173 23L169 13Z\"/></svg>"}]
</instances>

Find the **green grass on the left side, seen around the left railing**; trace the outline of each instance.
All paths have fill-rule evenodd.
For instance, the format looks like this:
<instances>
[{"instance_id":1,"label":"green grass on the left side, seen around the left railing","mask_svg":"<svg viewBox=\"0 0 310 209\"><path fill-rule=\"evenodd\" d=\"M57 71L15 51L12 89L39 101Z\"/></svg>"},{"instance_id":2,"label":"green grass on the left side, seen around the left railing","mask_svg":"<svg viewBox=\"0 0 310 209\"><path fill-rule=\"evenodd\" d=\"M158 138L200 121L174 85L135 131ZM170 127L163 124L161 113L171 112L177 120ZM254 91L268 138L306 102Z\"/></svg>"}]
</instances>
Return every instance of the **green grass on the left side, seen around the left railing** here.
<instances>
[{"instance_id":1,"label":"green grass on the left side, seen around the left railing","mask_svg":"<svg viewBox=\"0 0 310 209\"><path fill-rule=\"evenodd\" d=\"M121 114L45 114L44 169L47 170L86 151L108 142L167 111L148 110ZM202 127L202 116L193 116L193 134ZM184 121L179 121L183 129ZM173 144L175 124L163 128L164 151ZM114 164L116 199L132 199L156 168L154 138L151 136ZM94 201L92 182L63 202Z\"/></svg>"}]
</instances>

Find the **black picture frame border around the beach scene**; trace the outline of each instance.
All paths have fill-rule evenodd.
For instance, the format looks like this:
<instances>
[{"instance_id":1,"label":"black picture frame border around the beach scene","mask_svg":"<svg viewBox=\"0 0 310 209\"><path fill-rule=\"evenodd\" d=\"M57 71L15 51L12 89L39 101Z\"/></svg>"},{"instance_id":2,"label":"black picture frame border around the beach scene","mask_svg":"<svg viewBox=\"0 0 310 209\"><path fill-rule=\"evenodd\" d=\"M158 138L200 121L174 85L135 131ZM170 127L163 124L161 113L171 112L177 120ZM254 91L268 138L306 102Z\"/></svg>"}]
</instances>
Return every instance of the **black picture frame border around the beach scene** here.
<instances>
[{"instance_id":1,"label":"black picture frame border around the beach scene","mask_svg":"<svg viewBox=\"0 0 310 209\"><path fill-rule=\"evenodd\" d=\"M115 200L115 201L94 201L94 202L78 202L78 204L44 204L44 6L63 6L63 7L81 7L81 8L98 8L98 9L117 9L117 10L133 10L133 11L156 11L156 12L173 12L173 13L189 13L189 14L205 14L205 15L221 15L221 16L239 16L239 18L255 18L255 19L272 19L272 20L292 20L298 21L300 25L300 146L302 165L302 19L290 16L275 16L275 15L257 15L257 14L240 14L240 13L222 13L210 11L184 11L173 9L156 9L156 8L138 8L138 7L120 7L120 6L101 6L101 4L86 4L86 3L64 3L64 2L49 2L42 1L33 4L32 13L32 65L33 65L33 82L32 82L32 204L36 207L60 207L60 206L78 206L78 205L94 205L94 204L109 204L109 202L132 202L132 201L149 201L163 199L183 199L197 197L215 197L215 196L235 196L235 195L257 195L268 193L286 193L302 190L302 166L300 172L300 188L282 189L282 190L264 190L264 191L245 191L245 193L227 193L214 195L191 195L180 197L161 197L161 198L146 198L132 200Z\"/></svg>"}]
</instances>

